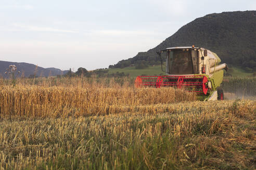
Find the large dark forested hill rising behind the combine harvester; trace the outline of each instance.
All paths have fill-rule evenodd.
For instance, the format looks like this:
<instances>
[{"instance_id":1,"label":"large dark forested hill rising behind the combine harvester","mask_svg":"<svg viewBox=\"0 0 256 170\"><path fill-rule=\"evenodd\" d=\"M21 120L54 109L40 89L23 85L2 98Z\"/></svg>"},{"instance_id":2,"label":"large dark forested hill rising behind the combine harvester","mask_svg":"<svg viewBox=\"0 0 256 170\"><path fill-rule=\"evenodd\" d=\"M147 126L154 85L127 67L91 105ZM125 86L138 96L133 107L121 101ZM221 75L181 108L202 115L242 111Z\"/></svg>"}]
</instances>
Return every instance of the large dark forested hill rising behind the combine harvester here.
<instances>
[{"instance_id":1,"label":"large dark forested hill rising behind the combine harvester","mask_svg":"<svg viewBox=\"0 0 256 170\"><path fill-rule=\"evenodd\" d=\"M203 47L217 53L222 62L256 71L256 11L212 13L184 25L147 52L122 60L110 68L143 63L159 64L156 51L177 46Z\"/></svg>"}]
</instances>

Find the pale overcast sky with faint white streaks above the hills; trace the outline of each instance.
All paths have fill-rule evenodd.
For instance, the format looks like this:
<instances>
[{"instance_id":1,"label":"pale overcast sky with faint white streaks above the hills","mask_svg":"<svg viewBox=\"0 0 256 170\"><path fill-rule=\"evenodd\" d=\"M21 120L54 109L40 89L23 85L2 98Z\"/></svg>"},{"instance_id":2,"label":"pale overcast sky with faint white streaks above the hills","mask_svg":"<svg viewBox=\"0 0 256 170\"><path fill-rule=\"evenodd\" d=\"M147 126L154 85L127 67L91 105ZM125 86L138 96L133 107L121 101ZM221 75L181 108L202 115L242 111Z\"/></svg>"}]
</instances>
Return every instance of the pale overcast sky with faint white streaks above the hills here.
<instances>
[{"instance_id":1,"label":"pale overcast sky with faint white streaks above the hills","mask_svg":"<svg viewBox=\"0 0 256 170\"><path fill-rule=\"evenodd\" d=\"M196 18L255 9L255 0L0 0L0 60L105 68L156 47Z\"/></svg>"}]
</instances>

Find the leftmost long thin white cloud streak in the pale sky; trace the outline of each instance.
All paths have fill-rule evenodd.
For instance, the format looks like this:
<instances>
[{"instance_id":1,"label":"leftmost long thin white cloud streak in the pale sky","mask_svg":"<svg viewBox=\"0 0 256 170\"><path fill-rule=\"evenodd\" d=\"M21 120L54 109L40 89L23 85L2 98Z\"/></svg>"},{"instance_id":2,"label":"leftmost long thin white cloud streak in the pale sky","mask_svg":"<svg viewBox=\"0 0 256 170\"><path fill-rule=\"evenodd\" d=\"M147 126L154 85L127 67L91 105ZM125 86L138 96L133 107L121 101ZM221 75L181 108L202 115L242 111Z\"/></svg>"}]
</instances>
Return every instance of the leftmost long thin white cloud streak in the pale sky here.
<instances>
[{"instance_id":1,"label":"leftmost long thin white cloud streak in the pale sky","mask_svg":"<svg viewBox=\"0 0 256 170\"><path fill-rule=\"evenodd\" d=\"M55 29L52 27L40 27L40 26L33 26L33 25L23 25L23 24L13 24L16 27L24 29L24 31L35 31L35 32L58 32L58 33L76 33L72 30L62 30L62 29Z\"/></svg>"}]
</instances>

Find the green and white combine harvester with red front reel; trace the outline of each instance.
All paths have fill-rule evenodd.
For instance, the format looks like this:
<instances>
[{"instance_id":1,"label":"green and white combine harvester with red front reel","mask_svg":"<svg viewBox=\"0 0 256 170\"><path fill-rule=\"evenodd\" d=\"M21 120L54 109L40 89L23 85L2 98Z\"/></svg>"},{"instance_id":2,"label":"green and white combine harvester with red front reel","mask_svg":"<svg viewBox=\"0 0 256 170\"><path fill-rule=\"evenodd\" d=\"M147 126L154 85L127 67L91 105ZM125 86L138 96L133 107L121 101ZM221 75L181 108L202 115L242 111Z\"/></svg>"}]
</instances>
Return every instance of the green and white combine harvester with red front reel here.
<instances>
[{"instance_id":1,"label":"green and white combine harvester with red front reel","mask_svg":"<svg viewBox=\"0 0 256 170\"><path fill-rule=\"evenodd\" d=\"M198 100L223 100L220 84L223 80L221 59L210 50L199 47L171 47L157 52L165 76L137 76L135 87L176 87L197 94ZM166 71L162 56L166 55Z\"/></svg>"}]
</instances>

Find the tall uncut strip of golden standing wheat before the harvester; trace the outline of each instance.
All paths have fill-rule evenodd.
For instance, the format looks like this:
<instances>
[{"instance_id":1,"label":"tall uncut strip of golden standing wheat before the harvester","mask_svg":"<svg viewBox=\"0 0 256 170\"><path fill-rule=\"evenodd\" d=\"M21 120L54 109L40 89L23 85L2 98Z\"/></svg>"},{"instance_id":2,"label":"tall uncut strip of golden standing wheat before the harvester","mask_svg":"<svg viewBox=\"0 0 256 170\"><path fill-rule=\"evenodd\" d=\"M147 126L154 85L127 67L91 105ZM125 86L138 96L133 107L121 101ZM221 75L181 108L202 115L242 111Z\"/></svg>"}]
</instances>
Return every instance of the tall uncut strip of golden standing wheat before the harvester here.
<instances>
[{"instance_id":1,"label":"tall uncut strip of golden standing wheat before the harvester","mask_svg":"<svg viewBox=\"0 0 256 170\"><path fill-rule=\"evenodd\" d=\"M173 88L2 87L2 118L68 117L156 112L156 104L193 101L195 95ZM146 105L146 107L145 107Z\"/></svg>"}]
</instances>

